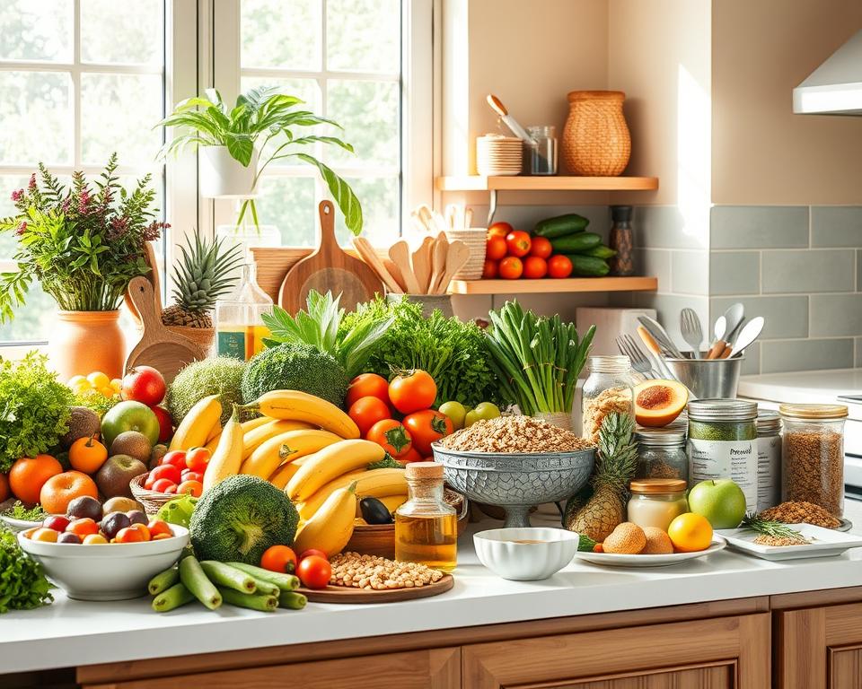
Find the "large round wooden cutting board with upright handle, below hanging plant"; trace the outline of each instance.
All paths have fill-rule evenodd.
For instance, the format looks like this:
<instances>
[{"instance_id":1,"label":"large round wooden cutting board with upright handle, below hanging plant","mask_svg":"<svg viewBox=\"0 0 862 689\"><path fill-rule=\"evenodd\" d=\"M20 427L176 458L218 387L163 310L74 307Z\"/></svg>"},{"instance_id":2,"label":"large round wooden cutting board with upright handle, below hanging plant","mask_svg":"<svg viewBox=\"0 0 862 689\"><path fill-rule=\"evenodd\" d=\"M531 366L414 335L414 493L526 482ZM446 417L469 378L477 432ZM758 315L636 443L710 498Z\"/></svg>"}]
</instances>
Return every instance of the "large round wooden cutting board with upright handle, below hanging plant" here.
<instances>
[{"instance_id":1,"label":"large round wooden cutting board with upright handle, below hanging plant","mask_svg":"<svg viewBox=\"0 0 862 689\"><path fill-rule=\"evenodd\" d=\"M340 306L348 311L372 299L375 292L383 294L383 283L365 261L348 256L339 247L331 201L321 201L320 215L321 245L288 271L278 292L278 305L291 314L305 308L311 290L322 294L330 291L336 297L340 294Z\"/></svg>"}]
</instances>

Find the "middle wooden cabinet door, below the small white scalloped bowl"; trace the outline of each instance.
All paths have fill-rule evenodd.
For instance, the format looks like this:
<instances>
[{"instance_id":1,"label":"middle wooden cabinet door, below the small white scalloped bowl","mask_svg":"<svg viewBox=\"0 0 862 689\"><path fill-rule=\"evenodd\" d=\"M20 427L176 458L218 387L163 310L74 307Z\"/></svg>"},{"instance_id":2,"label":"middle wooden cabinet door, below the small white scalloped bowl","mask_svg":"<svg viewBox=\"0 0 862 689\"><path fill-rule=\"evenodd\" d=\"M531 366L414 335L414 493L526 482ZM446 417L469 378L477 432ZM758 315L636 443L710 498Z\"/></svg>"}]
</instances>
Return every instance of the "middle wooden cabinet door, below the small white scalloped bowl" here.
<instances>
[{"instance_id":1,"label":"middle wooden cabinet door, below the small white scalloped bowl","mask_svg":"<svg viewBox=\"0 0 862 689\"><path fill-rule=\"evenodd\" d=\"M462 648L470 689L764 689L770 615L718 617Z\"/></svg>"}]
</instances>

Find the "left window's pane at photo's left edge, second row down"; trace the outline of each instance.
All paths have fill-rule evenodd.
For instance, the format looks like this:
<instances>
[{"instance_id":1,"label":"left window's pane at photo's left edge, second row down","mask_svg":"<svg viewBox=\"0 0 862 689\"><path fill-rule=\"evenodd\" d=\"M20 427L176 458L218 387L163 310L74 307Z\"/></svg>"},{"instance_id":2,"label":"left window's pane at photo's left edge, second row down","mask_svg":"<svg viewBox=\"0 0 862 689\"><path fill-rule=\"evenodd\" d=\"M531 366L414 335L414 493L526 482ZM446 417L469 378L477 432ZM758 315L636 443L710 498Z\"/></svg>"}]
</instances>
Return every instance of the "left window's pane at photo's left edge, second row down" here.
<instances>
[{"instance_id":1,"label":"left window's pane at photo's left edge, second row down","mask_svg":"<svg viewBox=\"0 0 862 689\"><path fill-rule=\"evenodd\" d=\"M72 81L53 72L0 72L0 161L72 162Z\"/></svg>"}]
</instances>

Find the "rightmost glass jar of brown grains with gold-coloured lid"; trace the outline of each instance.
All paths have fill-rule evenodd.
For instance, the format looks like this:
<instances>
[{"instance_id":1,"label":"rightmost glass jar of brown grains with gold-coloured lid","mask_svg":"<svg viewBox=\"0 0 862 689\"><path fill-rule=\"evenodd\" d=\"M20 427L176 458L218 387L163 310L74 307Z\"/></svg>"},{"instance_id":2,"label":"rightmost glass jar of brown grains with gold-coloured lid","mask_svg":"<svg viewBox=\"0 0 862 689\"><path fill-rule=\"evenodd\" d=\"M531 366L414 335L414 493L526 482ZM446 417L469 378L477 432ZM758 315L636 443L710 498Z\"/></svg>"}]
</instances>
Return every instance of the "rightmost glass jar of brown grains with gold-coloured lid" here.
<instances>
[{"instance_id":1,"label":"rightmost glass jar of brown grains with gold-coloured lid","mask_svg":"<svg viewBox=\"0 0 862 689\"><path fill-rule=\"evenodd\" d=\"M781 499L814 502L844 513L843 405L781 405Z\"/></svg>"}]
</instances>

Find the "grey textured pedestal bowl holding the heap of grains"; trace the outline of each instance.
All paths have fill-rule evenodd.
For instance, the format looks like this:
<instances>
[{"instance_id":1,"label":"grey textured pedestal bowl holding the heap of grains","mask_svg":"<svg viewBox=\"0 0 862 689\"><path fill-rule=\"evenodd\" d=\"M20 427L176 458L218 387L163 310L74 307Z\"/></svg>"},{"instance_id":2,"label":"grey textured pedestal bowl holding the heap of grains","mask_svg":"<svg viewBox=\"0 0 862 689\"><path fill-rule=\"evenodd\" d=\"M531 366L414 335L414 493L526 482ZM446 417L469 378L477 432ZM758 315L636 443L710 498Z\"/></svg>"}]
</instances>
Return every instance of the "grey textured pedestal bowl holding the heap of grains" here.
<instances>
[{"instance_id":1,"label":"grey textured pedestal bowl holding the heap of grains","mask_svg":"<svg viewBox=\"0 0 862 689\"><path fill-rule=\"evenodd\" d=\"M446 483L471 500L506 510L506 528L529 527L529 511L566 500L593 472L595 449L576 452L460 452L433 443Z\"/></svg>"}]
</instances>

